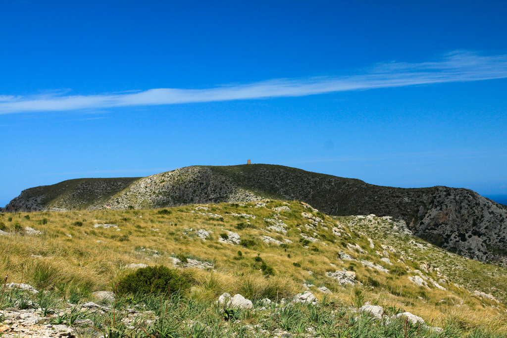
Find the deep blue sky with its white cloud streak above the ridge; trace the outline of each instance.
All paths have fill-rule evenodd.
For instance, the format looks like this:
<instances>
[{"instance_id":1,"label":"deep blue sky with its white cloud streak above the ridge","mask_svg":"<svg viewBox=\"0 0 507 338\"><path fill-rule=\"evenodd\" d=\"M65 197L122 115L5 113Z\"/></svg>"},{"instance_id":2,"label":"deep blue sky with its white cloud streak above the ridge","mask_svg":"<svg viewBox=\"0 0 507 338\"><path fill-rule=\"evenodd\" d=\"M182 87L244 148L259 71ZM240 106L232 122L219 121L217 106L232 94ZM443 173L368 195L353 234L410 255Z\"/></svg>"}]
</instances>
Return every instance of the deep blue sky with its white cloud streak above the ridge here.
<instances>
[{"instance_id":1,"label":"deep blue sky with its white cloud streak above the ridge","mask_svg":"<svg viewBox=\"0 0 507 338\"><path fill-rule=\"evenodd\" d=\"M507 195L507 3L0 2L0 205L255 163Z\"/></svg>"}]
</instances>

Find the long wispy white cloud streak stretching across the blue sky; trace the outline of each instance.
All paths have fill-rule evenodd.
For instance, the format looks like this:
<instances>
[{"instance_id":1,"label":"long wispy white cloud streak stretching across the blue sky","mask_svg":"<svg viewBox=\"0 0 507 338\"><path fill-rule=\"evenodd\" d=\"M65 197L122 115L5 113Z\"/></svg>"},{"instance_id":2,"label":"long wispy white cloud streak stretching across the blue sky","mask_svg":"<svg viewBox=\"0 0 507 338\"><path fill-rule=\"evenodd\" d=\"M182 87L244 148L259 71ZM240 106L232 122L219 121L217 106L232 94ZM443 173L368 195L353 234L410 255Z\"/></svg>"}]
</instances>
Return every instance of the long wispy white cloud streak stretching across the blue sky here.
<instances>
[{"instance_id":1,"label":"long wispy white cloud streak stretching across the blue sky","mask_svg":"<svg viewBox=\"0 0 507 338\"><path fill-rule=\"evenodd\" d=\"M157 88L100 95L70 95L68 92L31 96L0 95L0 114L305 96L502 78L507 78L507 55L483 56L456 51L438 61L379 63L356 74L339 77L275 79L208 89Z\"/></svg>"}]
</instances>

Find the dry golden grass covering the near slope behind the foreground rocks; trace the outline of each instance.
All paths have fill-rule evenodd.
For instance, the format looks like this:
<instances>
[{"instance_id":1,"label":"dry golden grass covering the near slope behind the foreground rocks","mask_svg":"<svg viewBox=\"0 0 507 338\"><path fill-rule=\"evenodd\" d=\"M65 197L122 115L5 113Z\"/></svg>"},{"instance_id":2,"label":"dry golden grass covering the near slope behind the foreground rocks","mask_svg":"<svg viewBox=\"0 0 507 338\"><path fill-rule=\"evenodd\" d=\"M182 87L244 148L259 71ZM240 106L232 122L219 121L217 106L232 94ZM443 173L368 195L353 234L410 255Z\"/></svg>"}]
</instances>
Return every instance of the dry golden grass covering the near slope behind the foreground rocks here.
<instances>
[{"instance_id":1,"label":"dry golden grass covering the near slope behind the foreground rocks","mask_svg":"<svg viewBox=\"0 0 507 338\"><path fill-rule=\"evenodd\" d=\"M171 257L184 255L214 264L214 271L193 269L190 297L196 300L213 300L223 292L229 292L250 298L269 295L272 301L276 301L276 298L281 300L303 291L302 284L306 282L315 285L311 290L320 301L324 295L316 287L326 286L333 291L331 296L325 297L326 301L347 306L357 303L354 288L359 288L364 301L381 305L384 309L403 309L432 322L433 326L442 326L446 320L452 319L465 329L484 327L492 332L507 332L503 304L480 299L452 284L447 284L445 291L418 287L408 280L406 274L385 274L365 268L359 262L342 261L340 251L391 270L419 267L417 261L397 261L399 254L392 252L389 258L394 265L385 265L375 253L382 251L379 242L375 241L375 248L370 248L365 236L346 228L341 237L332 237L331 228L337 226L337 221L321 213L314 212L324 219L323 226L328 229L307 230L301 213L309 212L309 209L297 202L287 204L291 212L280 212L288 233L267 232L269 224L265 218L273 218L276 212L271 208L283 203L271 201L267 207L260 208L256 208L255 203L207 205L208 210L181 206L168 208L167 213L161 210L83 210L3 214L0 221L10 234L0 236L0 273L9 274L11 282L23 281L39 289L53 289L67 296L80 293L87 297L92 291L113 290L115 283L132 271L126 269L129 264L173 267ZM199 212L219 214L223 219ZM253 214L256 218L247 221L231 213ZM244 226L248 222L248 227L237 229L238 224ZM95 223L118 224L120 230L94 228ZM42 234L27 235L23 231L25 227L40 230ZM188 231L191 228L193 231ZM213 233L202 241L195 235L199 229ZM239 233L241 239L258 242L251 248L221 243L220 235L228 231ZM315 232L321 241L304 248L299 242L301 232L308 236L315 236ZM259 241L261 236L289 239L293 243L285 247L268 245ZM359 244L365 253L350 250L348 243ZM386 244L395 246L395 243ZM158 251L157 255L150 250ZM263 275L254 260L258 255L274 268L274 276ZM326 272L343 269L353 269L363 285L344 287L326 276ZM435 273L426 275L436 280L439 278Z\"/></svg>"}]
</instances>

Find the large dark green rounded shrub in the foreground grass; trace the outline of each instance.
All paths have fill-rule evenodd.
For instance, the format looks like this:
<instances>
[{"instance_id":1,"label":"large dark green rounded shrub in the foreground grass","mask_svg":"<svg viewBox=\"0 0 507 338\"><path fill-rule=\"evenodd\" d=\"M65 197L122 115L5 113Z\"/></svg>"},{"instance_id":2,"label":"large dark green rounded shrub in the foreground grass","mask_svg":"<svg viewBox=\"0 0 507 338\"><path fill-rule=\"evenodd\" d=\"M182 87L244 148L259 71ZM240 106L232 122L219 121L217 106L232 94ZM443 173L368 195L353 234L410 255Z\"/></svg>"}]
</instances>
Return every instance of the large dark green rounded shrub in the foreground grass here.
<instances>
[{"instance_id":1,"label":"large dark green rounded shrub in the foreground grass","mask_svg":"<svg viewBox=\"0 0 507 338\"><path fill-rule=\"evenodd\" d=\"M122 278L117 287L119 294L171 294L190 288L188 272L155 266L137 269Z\"/></svg>"}]
</instances>

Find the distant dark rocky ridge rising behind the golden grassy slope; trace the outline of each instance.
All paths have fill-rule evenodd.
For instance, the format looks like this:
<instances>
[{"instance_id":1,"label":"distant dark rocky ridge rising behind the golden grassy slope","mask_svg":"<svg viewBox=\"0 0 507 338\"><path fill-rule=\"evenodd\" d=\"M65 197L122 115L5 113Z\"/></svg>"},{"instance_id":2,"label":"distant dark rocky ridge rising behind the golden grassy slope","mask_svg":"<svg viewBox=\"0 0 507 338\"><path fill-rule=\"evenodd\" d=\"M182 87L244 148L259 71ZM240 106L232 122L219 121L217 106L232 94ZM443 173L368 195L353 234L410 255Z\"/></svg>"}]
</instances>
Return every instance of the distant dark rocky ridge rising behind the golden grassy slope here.
<instances>
[{"instance_id":1,"label":"distant dark rocky ridge rising behind the golden grassy slope","mask_svg":"<svg viewBox=\"0 0 507 338\"><path fill-rule=\"evenodd\" d=\"M64 181L23 191L6 211L162 208L263 198L304 201L332 215L393 216L433 244L507 266L507 207L473 191L378 186L275 165L195 166L143 178Z\"/></svg>"}]
</instances>

